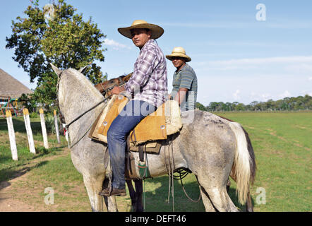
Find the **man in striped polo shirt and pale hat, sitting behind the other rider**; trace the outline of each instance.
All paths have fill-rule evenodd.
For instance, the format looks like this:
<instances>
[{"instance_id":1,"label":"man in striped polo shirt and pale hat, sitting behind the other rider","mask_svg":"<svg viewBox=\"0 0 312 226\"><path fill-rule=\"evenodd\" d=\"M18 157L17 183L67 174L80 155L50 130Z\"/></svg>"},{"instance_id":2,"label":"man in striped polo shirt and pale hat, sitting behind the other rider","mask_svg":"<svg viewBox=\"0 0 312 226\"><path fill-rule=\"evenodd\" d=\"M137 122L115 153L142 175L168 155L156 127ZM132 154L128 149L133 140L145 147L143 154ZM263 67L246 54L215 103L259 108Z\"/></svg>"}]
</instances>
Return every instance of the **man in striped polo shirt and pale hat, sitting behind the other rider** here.
<instances>
[{"instance_id":1,"label":"man in striped polo shirt and pale hat, sitting behind the other rider","mask_svg":"<svg viewBox=\"0 0 312 226\"><path fill-rule=\"evenodd\" d=\"M183 47L174 47L172 54L166 55L176 67L172 82L171 97L179 102L181 111L193 110L196 107L197 98L197 77L195 71L186 64L191 57L186 55Z\"/></svg>"}]
</instances>

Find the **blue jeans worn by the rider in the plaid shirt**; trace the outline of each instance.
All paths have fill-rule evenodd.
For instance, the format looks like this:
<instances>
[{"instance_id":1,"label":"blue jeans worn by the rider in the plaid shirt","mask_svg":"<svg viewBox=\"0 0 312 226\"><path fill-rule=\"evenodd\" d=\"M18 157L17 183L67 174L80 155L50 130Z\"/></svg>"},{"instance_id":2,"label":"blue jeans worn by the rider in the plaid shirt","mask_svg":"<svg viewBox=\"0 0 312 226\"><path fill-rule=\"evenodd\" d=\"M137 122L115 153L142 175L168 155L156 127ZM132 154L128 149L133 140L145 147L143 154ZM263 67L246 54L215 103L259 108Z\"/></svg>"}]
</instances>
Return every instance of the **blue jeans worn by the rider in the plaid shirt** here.
<instances>
[{"instance_id":1,"label":"blue jeans worn by the rider in the plaid shirt","mask_svg":"<svg viewBox=\"0 0 312 226\"><path fill-rule=\"evenodd\" d=\"M138 125L138 123L155 112L155 106L142 100L131 100L123 111L114 119L107 132L109 157L112 165L112 186L115 189L125 189L125 153L126 136Z\"/></svg>"}]
</instances>

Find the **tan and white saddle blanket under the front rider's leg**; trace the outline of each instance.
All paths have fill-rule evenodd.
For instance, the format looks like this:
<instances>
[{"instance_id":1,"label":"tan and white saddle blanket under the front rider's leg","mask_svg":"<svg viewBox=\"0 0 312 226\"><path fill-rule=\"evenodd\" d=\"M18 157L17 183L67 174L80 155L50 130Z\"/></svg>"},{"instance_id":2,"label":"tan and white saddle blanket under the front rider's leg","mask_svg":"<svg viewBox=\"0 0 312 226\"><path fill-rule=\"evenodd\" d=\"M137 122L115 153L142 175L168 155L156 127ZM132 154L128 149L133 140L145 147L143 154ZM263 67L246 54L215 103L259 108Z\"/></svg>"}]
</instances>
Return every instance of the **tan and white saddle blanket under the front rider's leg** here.
<instances>
[{"instance_id":1,"label":"tan and white saddle blanket under the front rider's leg","mask_svg":"<svg viewBox=\"0 0 312 226\"><path fill-rule=\"evenodd\" d=\"M89 137L107 143L107 131L112 121L124 109L128 98L123 95L113 95L100 115L95 120ZM167 139L167 136L177 133L182 128L179 103L167 100L158 107L156 112L145 117L129 134L130 146L140 145L148 141Z\"/></svg>"}]
</instances>

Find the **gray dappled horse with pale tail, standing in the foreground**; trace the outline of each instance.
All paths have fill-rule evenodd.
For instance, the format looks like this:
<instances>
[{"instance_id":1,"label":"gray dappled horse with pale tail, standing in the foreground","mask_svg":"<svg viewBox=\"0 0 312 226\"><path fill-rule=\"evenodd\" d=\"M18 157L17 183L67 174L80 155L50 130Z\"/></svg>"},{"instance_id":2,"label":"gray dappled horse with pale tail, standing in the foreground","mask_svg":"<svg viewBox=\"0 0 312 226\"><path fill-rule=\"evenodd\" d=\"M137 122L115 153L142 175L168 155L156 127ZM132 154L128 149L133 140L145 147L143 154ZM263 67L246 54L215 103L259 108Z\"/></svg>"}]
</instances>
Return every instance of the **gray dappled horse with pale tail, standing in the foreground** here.
<instances>
[{"instance_id":1,"label":"gray dappled horse with pale tail, standing in the foreground","mask_svg":"<svg viewBox=\"0 0 312 226\"><path fill-rule=\"evenodd\" d=\"M98 194L109 170L104 167L106 146L92 141L88 131L107 102L83 76L83 70L61 71L52 67L59 76L59 109L66 124L71 124L68 129L73 146L71 160L83 175L92 210L101 211L102 197ZM169 139L170 147L167 143L159 155L148 155L151 177L169 173L166 155L170 148L174 169L190 169L196 175L206 211L237 211L227 194L229 176L237 183L239 202L247 203L248 210L252 210L250 186L255 179L256 162L248 134L238 123L195 110L191 123L184 124ZM138 153L133 153L133 157L138 165ZM115 197L104 197L104 201L108 211L117 211Z\"/></svg>"}]
</instances>

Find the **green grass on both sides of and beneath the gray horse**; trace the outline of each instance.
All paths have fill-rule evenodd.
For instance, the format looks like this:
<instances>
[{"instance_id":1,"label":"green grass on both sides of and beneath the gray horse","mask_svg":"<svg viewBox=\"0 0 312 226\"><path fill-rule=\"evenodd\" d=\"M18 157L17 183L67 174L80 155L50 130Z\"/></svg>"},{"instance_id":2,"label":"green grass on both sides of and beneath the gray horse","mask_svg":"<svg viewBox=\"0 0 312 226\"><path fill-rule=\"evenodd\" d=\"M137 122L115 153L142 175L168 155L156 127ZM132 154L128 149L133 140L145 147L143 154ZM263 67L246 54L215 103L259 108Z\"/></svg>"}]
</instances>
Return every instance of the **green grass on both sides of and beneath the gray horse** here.
<instances>
[{"instance_id":1,"label":"green grass on both sides of and beneath the gray horse","mask_svg":"<svg viewBox=\"0 0 312 226\"><path fill-rule=\"evenodd\" d=\"M241 123L251 138L258 167L256 182L251 189L254 210L311 211L312 112L217 114ZM90 211L83 178L73 167L68 148L64 148L64 137L61 145L58 145L56 137L49 136L52 148L44 150L40 121L32 119L32 131L39 152L33 155L27 148L23 119L13 119L13 124L18 140L18 162L11 160L6 119L0 119L0 182L22 178L21 175L25 173L23 179L11 184L11 196L35 206L37 211ZM184 179L184 185L188 195L197 199L199 190L193 174ZM44 196L47 195L44 189L47 187L55 191L52 206L44 204ZM167 176L146 179L145 210L172 211L172 196L167 202L168 189ZM235 189L236 184L232 182L229 195L236 206L244 210L237 203ZM117 203L120 211L131 210L129 196L118 197ZM174 182L174 209L205 210L201 201L188 201L178 181Z\"/></svg>"}]
</instances>

